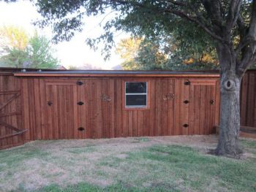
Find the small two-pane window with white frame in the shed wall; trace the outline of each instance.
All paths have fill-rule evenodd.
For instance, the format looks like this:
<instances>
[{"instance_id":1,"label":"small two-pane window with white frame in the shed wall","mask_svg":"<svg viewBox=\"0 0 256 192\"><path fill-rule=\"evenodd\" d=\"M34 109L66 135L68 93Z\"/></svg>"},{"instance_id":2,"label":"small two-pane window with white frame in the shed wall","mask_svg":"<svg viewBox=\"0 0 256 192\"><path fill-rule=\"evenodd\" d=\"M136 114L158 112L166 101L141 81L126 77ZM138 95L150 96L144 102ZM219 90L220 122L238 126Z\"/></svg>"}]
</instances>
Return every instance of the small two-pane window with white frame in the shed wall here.
<instances>
[{"instance_id":1,"label":"small two-pane window with white frame in the shed wall","mask_svg":"<svg viewBox=\"0 0 256 192\"><path fill-rule=\"evenodd\" d=\"M147 107L147 82L125 82L125 107Z\"/></svg>"}]
</instances>

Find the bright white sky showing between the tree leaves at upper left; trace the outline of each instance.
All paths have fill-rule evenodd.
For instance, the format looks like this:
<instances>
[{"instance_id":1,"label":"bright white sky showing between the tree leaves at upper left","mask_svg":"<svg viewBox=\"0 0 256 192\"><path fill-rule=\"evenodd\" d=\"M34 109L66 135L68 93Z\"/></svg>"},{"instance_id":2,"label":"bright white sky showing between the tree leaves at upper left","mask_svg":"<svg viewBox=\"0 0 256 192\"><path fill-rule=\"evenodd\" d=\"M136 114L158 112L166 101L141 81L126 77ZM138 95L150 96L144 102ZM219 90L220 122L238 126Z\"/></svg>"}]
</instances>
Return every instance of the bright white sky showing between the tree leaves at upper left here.
<instances>
[{"instance_id":1,"label":"bright white sky showing between the tree leaves at upper left","mask_svg":"<svg viewBox=\"0 0 256 192\"><path fill-rule=\"evenodd\" d=\"M53 37L50 28L41 29L32 24L34 20L40 17L37 8L30 1L18 1L9 4L0 1L0 26L19 26L28 31L29 34L33 34L37 30L39 34L43 34L50 39ZM56 50L55 55L61 61L61 65L79 67L89 64L97 69L113 69L113 67L115 68L115 66L121 64L122 60L116 55L115 49L112 50L110 60L104 61L100 48L94 52L85 43L87 37L96 37L102 32L99 23L104 17L105 15L99 15L85 18L84 30L81 33L75 34L75 37L69 42L59 42L58 45L53 45ZM108 17L111 17L111 15L108 15ZM125 37L128 37L128 34L116 34L116 44Z\"/></svg>"}]
</instances>

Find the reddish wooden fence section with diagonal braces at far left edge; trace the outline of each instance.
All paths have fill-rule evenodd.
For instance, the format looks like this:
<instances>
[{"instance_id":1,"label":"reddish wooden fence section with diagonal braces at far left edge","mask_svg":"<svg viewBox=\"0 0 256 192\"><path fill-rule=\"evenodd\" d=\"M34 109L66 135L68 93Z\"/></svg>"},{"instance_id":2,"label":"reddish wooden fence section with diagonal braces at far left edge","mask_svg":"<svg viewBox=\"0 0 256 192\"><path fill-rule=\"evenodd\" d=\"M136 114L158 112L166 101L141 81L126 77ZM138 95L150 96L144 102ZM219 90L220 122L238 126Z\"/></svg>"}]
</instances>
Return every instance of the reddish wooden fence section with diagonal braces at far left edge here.
<instances>
[{"instance_id":1,"label":"reddish wooden fence section with diagonal braces at far left edge","mask_svg":"<svg viewBox=\"0 0 256 192\"><path fill-rule=\"evenodd\" d=\"M23 144L20 81L0 72L0 149Z\"/></svg>"}]
</instances>

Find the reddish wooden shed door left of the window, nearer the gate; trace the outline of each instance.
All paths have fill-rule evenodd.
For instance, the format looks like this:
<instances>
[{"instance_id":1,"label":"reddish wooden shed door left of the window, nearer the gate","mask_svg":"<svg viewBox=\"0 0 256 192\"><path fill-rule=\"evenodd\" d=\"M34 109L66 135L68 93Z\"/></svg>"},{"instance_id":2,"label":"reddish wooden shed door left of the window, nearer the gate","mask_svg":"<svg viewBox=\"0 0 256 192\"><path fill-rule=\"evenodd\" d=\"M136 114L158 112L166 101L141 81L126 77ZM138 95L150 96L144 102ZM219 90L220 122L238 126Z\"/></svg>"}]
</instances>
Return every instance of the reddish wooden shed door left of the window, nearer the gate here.
<instances>
[{"instance_id":1,"label":"reddish wooden shed door left of the window, nearer the gate","mask_svg":"<svg viewBox=\"0 0 256 192\"><path fill-rule=\"evenodd\" d=\"M74 82L47 83L48 138L86 138L83 116L85 101L80 101L80 89ZM83 120L83 121L82 121Z\"/></svg>"}]
</instances>

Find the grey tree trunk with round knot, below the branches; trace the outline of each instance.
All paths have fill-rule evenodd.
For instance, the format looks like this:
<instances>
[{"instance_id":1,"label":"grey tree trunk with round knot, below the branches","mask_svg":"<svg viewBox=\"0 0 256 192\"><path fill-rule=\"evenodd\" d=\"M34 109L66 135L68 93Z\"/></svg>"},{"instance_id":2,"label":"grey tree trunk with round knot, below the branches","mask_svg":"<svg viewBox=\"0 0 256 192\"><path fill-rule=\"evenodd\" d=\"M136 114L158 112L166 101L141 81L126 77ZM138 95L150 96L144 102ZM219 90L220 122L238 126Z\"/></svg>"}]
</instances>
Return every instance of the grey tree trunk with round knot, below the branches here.
<instances>
[{"instance_id":1,"label":"grey tree trunk with round knot, below the branches","mask_svg":"<svg viewBox=\"0 0 256 192\"><path fill-rule=\"evenodd\" d=\"M235 71L235 70L234 70ZM227 70L221 74L220 130L217 155L238 158L240 129L240 87L241 78L236 72Z\"/></svg>"}]
</instances>

